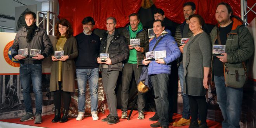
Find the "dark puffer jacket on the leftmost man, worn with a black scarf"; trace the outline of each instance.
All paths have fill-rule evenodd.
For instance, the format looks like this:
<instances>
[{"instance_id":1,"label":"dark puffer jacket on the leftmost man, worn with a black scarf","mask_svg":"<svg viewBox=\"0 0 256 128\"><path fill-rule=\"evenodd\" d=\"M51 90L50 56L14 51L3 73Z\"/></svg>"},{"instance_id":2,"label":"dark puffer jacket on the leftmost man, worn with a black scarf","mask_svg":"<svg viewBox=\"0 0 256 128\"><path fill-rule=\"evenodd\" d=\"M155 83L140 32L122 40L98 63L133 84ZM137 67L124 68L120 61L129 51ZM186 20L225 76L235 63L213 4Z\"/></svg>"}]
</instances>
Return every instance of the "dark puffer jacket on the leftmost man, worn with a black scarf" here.
<instances>
[{"instance_id":1,"label":"dark puffer jacket on the leftmost man, worn with a black scarf","mask_svg":"<svg viewBox=\"0 0 256 128\"><path fill-rule=\"evenodd\" d=\"M46 31L42 28L35 28L35 36L31 43L26 42L27 30L22 27L16 34L14 43L11 47L12 57L18 55L19 49L28 48L28 55L30 55L31 49L40 49L41 54L46 58L52 53L52 43ZM43 60L43 59L42 59ZM42 60L32 59L32 57L26 57L25 59L19 60L21 64L41 64Z\"/></svg>"}]
</instances>

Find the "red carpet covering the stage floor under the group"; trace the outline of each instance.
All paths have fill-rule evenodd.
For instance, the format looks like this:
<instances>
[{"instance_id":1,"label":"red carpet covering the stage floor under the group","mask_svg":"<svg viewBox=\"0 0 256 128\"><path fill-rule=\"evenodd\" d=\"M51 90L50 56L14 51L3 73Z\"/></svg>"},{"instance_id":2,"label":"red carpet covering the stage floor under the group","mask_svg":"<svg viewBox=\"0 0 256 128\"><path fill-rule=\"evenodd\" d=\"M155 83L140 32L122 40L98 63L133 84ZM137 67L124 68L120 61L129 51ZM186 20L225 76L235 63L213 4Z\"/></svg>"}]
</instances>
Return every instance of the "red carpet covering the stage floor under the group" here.
<instances>
[{"instance_id":1,"label":"red carpet covering the stage floor under the group","mask_svg":"<svg viewBox=\"0 0 256 128\"><path fill-rule=\"evenodd\" d=\"M128 111L129 113L130 111ZM92 117L85 117L82 121L76 121L76 118L69 118L69 121L66 123L52 123L52 119L54 118L54 114L47 115L42 117L42 124L35 125L34 120L20 122L19 119L4 119L0 120L3 122L9 123L18 123L23 125L31 125L31 126L39 126L39 127L47 127L47 128L150 128L151 123L155 123L149 121L149 118L154 115L155 112L145 112L145 119L139 120L138 111L133 111L131 114L131 120L120 119L120 122L114 125L108 125L106 122L102 122L101 119L106 118L109 114L109 111L106 110L105 114L99 113L99 120L93 121ZM119 117L121 116L121 110L118 110ZM173 119L177 121L181 118L180 114L174 114ZM221 128L221 124L216 121L207 120L209 128ZM182 126L180 128L188 128L189 126ZM173 127L170 124L169 128L177 128Z\"/></svg>"}]
</instances>

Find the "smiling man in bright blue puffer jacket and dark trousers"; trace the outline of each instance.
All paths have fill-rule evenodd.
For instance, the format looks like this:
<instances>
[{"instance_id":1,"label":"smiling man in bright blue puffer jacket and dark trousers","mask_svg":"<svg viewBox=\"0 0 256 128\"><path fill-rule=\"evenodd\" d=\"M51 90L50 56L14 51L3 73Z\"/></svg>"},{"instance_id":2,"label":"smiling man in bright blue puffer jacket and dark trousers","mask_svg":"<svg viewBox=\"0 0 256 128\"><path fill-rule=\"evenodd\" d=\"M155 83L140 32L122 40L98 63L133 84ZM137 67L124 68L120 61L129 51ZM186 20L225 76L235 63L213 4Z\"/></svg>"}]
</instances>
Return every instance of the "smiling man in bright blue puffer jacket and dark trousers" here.
<instances>
[{"instance_id":1,"label":"smiling man in bright blue puffer jacket and dark trousers","mask_svg":"<svg viewBox=\"0 0 256 128\"><path fill-rule=\"evenodd\" d=\"M155 59L154 61L146 61L144 59L142 64L148 65L148 75L152 81L154 88L156 110L159 115L159 121L162 128L168 128L169 126L169 102L168 102L168 85L169 75L171 74L171 62L180 57L180 50L178 48L175 39L164 30L164 24L161 20L155 20L153 24L153 30L155 38L149 43L149 51L152 51L156 42L160 42L156 45L154 51L166 51L166 58ZM153 124L152 124L153 125ZM151 125L150 125L151 126Z\"/></svg>"}]
</instances>

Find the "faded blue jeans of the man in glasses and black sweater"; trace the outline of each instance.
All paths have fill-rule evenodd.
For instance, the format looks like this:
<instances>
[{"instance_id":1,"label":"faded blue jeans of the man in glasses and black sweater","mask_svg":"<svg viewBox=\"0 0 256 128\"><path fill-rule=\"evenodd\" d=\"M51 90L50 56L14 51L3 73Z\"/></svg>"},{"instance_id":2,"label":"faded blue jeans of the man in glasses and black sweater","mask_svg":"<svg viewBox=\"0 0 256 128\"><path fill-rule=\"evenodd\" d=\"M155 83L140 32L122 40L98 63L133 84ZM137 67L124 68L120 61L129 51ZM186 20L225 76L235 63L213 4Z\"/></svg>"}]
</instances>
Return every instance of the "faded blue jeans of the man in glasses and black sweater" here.
<instances>
[{"instance_id":1,"label":"faded blue jeans of the man in glasses and black sweater","mask_svg":"<svg viewBox=\"0 0 256 128\"><path fill-rule=\"evenodd\" d=\"M91 112L95 114L98 109L99 68L76 69L76 77L78 85L78 111L85 112L85 92L88 80L91 95Z\"/></svg>"}]
</instances>

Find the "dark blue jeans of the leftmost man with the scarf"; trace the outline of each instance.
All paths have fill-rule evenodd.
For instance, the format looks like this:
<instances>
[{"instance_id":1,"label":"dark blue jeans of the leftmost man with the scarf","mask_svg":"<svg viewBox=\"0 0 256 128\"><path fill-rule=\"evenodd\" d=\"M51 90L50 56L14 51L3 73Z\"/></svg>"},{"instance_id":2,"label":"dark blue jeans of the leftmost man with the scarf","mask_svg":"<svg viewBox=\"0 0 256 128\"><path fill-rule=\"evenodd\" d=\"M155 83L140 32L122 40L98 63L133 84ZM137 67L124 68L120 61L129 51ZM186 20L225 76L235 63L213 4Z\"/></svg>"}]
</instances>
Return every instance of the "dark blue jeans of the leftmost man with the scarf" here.
<instances>
[{"instance_id":1,"label":"dark blue jeans of the leftmost man with the scarf","mask_svg":"<svg viewBox=\"0 0 256 128\"><path fill-rule=\"evenodd\" d=\"M42 64L21 64L19 68L22 93L26 112L33 113L30 96L30 85L32 81L33 92L35 93L36 114L42 114Z\"/></svg>"}]
</instances>

